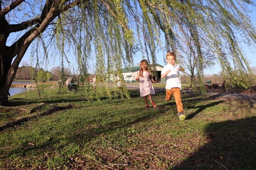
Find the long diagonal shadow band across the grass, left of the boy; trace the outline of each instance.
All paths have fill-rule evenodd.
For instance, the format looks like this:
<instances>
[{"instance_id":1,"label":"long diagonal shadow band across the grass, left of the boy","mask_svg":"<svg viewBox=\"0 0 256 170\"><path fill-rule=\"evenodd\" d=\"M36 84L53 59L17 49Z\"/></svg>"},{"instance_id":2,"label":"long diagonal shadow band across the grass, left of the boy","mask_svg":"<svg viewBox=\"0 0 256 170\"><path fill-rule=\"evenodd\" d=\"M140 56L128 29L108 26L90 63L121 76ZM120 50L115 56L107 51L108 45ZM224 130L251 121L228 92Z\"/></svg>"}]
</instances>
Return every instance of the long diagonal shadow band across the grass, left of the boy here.
<instances>
[{"instance_id":1,"label":"long diagonal shadow band across the grass, left of the boy","mask_svg":"<svg viewBox=\"0 0 256 170\"><path fill-rule=\"evenodd\" d=\"M119 116L117 116L116 113L100 113L94 116L89 116L87 119L77 119L75 122L70 124L66 123L66 126L61 125L54 127L59 128L59 134L54 134L53 136L49 135L49 132L51 131L50 129L53 127L52 125L49 125L52 127L44 127L45 129L41 129L41 137L39 139L34 139L36 143L37 140L47 137L47 141L42 142L41 144L35 144L33 147L29 147L26 139L20 139L25 141L23 144L21 144L22 147L13 148L6 153L6 157L8 158L13 154L21 154L25 156L29 154L29 152L41 152L41 150L44 150L45 148L52 148L49 149L49 152L51 150L55 150L54 152L64 152L64 150L67 149L66 147L72 144L77 144L80 147L83 147L84 144L90 143L98 136L113 133L119 135L119 131L121 131L121 133L125 133L125 129L127 129L130 125L139 122L146 122L148 119L154 119L156 116L162 114L162 112L156 108L154 108L154 111L143 110L141 114L132 114L135 112L137 112L137 109L127 110L121 113ZM115 117L116 121L113 119L109 120L109 123L104 124L105 119L108 117ZM125 136L125 134L122 135ZM104 140L104 138L102 138L102 140ZM55 149L56 146L58 149Z\"/></svg>"}]
</instances>

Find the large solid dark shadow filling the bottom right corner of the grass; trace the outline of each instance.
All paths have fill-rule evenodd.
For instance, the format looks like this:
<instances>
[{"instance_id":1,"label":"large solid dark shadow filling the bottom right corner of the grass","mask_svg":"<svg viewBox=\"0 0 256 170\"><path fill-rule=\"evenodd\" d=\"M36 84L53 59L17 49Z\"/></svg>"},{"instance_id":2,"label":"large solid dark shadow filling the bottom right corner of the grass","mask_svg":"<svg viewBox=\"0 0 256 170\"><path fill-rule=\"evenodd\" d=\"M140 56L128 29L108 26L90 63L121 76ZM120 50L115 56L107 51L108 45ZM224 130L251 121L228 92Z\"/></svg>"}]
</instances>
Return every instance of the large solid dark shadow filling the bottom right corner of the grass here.
<instances>
[{"instance_id":1,"label":"large solid dark shadow filling the bottom right corner of the grass","mask_svg":"<svg viewBox=\"0 0 256 170\"><path fill-rule=\"evenodd\" d=\"M256 116L210 123L208 143L172 170L256 170Z\"/></svg>"}]
</instances>

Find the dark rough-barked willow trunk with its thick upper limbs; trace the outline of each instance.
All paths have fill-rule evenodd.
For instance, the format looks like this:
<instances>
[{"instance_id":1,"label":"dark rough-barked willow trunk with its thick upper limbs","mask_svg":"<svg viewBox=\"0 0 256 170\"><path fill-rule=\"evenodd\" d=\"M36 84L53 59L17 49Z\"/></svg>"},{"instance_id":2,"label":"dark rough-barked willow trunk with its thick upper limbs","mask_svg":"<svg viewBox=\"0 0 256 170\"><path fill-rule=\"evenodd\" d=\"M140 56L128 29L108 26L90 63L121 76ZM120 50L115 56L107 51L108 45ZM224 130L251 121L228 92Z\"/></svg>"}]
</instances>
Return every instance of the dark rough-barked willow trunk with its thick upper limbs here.
<instances>
[{"instance_id":1,"label":"dark rough-barked willow trunk with its thick upper limbs","mask_svg":"<svg viewBox=\"0 0 256 170\"><path fill-rule=\"evenodd\" d=\"M61 14L61 12L81 3L80 1L74 1L61 8L58 0L47 0L40 17L35 17L32 20L27 20L20 24L9 24L5 15L20 5L20 3L23 1L24 0L13 1L6 8L0 9L0 105L8 104L7 95L9 88L15 77L20 61L32 41L35 40L38 35L44 32L52 20ZM6 46L6 41L10 33L22 31L29 27L31 27L31 29L23 34L23 36L20 37L16 42L14 42L11 46Z\"/></svg>"}]
</instances>

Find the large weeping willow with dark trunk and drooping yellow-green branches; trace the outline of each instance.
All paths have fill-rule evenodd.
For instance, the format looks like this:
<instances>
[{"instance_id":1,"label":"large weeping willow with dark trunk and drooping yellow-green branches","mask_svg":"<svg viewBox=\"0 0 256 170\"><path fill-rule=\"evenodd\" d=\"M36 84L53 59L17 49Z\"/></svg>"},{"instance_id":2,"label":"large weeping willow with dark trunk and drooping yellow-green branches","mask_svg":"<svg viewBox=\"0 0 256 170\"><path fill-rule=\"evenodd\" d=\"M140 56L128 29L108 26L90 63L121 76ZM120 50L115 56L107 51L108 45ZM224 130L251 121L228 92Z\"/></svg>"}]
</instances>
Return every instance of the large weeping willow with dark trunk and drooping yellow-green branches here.
<instances>
[{"instance_id":1,"label":"large weeping willow with dark trunk and drooping yellow-green branches","mask_svg":"<svg viewBox=\"0 0 256 170\"><path fill-rule=\"evenodd\" d=\"M247 7L255 6L250 0L0 2L1 105L8 100L10 85L29 46L37 60L40 53L47 60L48 49L55 49L61 56L62 65L65 53L74 51L82 75L87 75L88 62L95 54L96 74L108 77L114 71L120 74L122 63L132 64L136 50L154 64L163 33L166 52L172 50L182 54L181 49L193 42L200 82L206 62L202 51L209 51L218 59L223 71L234 77L249 71L237 35L241 34L244 42L256 42L255 28L247 17ZM6 45L14 32L18 33L17 39ZM231 74L234 71L236 74Z\"/></svg>"}]
</instances>

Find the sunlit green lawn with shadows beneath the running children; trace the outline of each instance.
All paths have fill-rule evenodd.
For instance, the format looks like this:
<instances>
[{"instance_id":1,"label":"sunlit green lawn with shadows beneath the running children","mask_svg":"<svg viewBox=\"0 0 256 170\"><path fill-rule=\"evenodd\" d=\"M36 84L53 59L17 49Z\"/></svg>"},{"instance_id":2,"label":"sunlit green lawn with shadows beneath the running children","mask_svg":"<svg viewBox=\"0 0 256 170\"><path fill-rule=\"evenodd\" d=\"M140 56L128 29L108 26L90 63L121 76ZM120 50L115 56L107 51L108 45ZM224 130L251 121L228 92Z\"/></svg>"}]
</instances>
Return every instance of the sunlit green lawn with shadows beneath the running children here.
<instances>
[{"instance_id":1,"label":"sunlit green lawn with shadows beneath the running children","mask_svg":"<svg viewBox=\"0 0 256 170\"><path fill-rule=\"evenodd\" d=\"M18 94L12 108L0 108L3 124L31 116L17 108L74 106L1 131L0 169L256 169L254 103L182 96L181 122L164 91L148 110L134 90L131 99L100 101L88 101L83 91L57 92Z\"/></svg>"}]
</instances>

